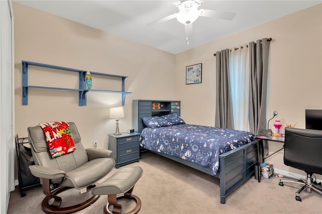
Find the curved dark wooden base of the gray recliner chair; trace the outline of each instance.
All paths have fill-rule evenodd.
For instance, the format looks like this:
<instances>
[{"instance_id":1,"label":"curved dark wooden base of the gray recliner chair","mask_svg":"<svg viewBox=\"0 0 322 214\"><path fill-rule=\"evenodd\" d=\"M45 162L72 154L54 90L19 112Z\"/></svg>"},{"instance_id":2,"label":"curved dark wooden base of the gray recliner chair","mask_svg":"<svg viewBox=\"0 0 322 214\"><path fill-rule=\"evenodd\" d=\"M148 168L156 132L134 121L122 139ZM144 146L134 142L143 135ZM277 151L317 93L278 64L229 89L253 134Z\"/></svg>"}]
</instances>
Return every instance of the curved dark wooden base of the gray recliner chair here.
<instances>
[{"instance_id":1,"label":"curved dark wooden base of the gray recliner chair","mask_svg":"<svg viewBox=\"0 0 322 214\"><path fill-rule=\"evenodd\" d=\"M41 207L44 212L49 213L49 214L51 214L51 213L65 214L65 213L76 212L76 211L84 209L84 208L88 207L89 205L93 204L100 197L100 195L93 195L92 197L90 197L86 201L83 201L83 202L78 203L76 205L67 206L67 207L59 207L59 205L61 204L61 197L57 196L57 194L65 191L67 189L70 189L71 187L59 187L53 191L50 191L49 186L50 186L49 179L43 179L43 192L47 196L43 199L43 201L41 203ZM51 204L49 204L49 200L51 198L53 198L54 201Z\"/></svg>"}]
</instances>

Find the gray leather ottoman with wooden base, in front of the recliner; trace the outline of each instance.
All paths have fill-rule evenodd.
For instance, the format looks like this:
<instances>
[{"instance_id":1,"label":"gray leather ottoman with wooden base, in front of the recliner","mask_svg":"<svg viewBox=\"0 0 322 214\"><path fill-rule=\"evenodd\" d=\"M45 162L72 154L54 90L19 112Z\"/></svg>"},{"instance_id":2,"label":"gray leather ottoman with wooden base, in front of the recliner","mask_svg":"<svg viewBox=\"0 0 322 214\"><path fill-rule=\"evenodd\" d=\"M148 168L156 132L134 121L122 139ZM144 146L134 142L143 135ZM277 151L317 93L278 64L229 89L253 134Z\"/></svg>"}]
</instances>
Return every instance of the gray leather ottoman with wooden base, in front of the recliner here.
<instances>
[{"instance_id":1,"label":"gray leather ottoman with wooden base, in front of the recliner","mask_svg":"<svg viewBox=\"0 0 322 214\"><path fill-rule=\"evenodd\" d=\"M105 213L120 214L122 210L121 204L117 203L117 199L129 198L136 202L136 206L125 214L135 214L141 209L141 200L138 196L132 195L135 183L140 179L143 170L139 166L120 168L111 177L94 187L94 195L108 195L108 202L104 206ZM117 196L117 194L124 193ZM109 205L113 205L113 211L110 212Z\"/></svg>"}]
</instances>

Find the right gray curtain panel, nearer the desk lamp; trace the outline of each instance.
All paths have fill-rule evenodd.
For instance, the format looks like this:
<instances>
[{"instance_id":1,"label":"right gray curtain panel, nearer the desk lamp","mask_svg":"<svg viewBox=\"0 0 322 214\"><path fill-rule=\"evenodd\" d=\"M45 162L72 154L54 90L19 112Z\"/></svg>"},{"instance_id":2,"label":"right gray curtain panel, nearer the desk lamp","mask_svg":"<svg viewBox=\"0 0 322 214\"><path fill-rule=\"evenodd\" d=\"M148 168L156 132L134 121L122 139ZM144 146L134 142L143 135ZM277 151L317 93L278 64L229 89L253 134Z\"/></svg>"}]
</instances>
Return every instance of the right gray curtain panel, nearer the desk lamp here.
<instances>
[{"instance_id":1,"label":"right gray curtain panel, nearer the desk lamp","mask_svg":"<svg viewBox=\"0 0 322 214\"><path fill-rule=\"evenodd\" d=\"M250 131L254 134L266 129L267 77L270 41L267 38L250 42ZM268 144L264 143L264 153Z\"/></svg>"}]
</instances>

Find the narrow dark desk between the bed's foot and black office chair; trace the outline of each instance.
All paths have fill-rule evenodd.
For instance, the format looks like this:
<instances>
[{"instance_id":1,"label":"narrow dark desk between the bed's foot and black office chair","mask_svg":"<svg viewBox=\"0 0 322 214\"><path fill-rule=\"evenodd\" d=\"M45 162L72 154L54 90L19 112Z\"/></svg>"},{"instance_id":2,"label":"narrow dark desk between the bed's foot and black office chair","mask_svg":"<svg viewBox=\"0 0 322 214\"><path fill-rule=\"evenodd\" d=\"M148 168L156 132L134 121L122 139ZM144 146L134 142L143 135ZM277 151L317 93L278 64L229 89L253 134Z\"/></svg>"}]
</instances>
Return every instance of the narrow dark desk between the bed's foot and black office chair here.
<instances>
[{"instance_id":1,"label":"narrow dark desk between the bed's foot and black office chair","mask_svg":"<svg viewBox=\"0 0 322 214\"><path fill-rule=\"evenodd\" d=\"M284 137L279 137L279 136L272 136L268 134L258 134L256 137L256 142L257 142L257 153L258 153L258 182L261 182L261 164L265 161L265 159L269 158L273 154L281 151L284 148L279 149L278 151L274 152L273 154L270 154L268 156L264 157L264 147L263 147L263 140L267 141L275 141L275 142L280 142L284 144Z\"/></svg>"}]
</instances>

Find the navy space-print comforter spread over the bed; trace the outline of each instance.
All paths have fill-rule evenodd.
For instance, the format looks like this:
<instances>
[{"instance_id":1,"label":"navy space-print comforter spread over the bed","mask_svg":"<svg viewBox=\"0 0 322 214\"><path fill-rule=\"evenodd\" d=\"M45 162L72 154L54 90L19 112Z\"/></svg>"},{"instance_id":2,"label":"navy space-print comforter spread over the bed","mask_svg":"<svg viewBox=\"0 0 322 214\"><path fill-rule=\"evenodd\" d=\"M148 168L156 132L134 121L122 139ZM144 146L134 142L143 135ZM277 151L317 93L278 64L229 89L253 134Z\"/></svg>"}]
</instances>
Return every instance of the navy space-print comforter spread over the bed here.
<instances>
[{"instance_id":1,"label":"navy space-print comforter spread over the bed","mask_svg":"<svg viewBox=\"0 0 322 214\"><path fill-rule=\"evenodd\" d=\"M140 146L209 167L216 175L219 155L253 141L254 137L247 131L180 124L144 128Z\"/></svg>"}]
</instances>

